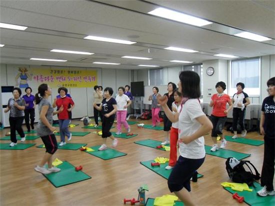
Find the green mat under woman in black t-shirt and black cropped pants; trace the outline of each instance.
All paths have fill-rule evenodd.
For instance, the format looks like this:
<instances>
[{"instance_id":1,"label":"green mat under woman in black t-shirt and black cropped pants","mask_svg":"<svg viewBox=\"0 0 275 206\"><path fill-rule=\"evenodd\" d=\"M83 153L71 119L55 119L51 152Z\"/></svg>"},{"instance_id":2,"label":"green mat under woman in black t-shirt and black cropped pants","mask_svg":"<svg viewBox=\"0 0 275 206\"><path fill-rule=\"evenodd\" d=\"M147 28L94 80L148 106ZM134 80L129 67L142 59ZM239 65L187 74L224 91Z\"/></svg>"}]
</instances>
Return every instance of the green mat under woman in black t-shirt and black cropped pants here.
<instances>
[{"instance_id":1,"label":"green mat under woman in black t-shirt and black cropped pants","mask_svg":"<svg viewBox=\"0 0 275 206\"><path fill-rule=\"evenodd\" d=\"M99 147L100 147L100 145L91 146L90 148L94 149L94 151L86 151L85 150L85 152L87 152L91 155L97 156L104 160L112 159L112 158L119 157L119 156L124 156L127 154L127 153L117 151L117 150L109 148L109 147L105 150L98 151Z\"/></svg>"}]
</instances>

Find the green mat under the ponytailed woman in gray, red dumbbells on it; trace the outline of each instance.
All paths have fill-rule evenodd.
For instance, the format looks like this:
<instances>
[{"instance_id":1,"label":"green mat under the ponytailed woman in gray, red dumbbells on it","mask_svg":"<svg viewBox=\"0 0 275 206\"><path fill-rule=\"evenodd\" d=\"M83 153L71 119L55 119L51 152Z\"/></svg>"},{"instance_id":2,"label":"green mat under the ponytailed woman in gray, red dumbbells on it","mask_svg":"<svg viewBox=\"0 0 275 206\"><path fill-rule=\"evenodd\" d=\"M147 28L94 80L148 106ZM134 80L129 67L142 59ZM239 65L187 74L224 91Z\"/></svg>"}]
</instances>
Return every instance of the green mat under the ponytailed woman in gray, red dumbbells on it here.
<instances>
[{"instance_id":1,"label":"green mat under the ponytailed woman in gray, red dumbbells on it","mask_svg":"<svg viewBox=\"0 0 275 206\"><path fill-rule=\"evenodd\" d=\"M67 161L63 161L63 163L57 165L56 167L61 170L58 172L43 174L55 187L64 186L91 178L82 170L75 171L75 166Z\"/></svg>"}]
</instances>

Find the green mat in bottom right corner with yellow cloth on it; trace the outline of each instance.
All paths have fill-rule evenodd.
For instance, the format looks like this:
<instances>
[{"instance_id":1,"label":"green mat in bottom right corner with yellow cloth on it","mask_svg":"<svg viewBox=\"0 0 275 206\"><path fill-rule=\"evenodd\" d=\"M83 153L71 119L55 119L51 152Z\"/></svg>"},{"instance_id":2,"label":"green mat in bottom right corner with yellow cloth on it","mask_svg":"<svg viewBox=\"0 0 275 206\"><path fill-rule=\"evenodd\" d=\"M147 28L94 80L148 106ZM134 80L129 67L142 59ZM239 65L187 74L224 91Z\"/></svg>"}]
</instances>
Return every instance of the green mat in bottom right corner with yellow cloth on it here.
<instances>
[{"instance_id":1,"label":"green mat in bottom right corner with yellow cloth on it","mask_svg":"<svg viewBox=\"0 0 275 206\"><path fill-rule=\"evenodd\" d=\"M253 186L249 186L250 189L253 189L252 191L235 191L233 189L231 189L231 187L224 187L224 189L226 189L227 191L229 191L230 193L234 194L237 193L239 196L243 196L244 197L244 201L253 206L267 206L267 205L275 205L275 196L259 196L257 195L257 191L260 190L262 188L262 186L260 186L260 184L258 182L254 182L253 183L255 187ZM232 198L232 201L236 201L235 199Z\"/></svg>"}]
</instances>

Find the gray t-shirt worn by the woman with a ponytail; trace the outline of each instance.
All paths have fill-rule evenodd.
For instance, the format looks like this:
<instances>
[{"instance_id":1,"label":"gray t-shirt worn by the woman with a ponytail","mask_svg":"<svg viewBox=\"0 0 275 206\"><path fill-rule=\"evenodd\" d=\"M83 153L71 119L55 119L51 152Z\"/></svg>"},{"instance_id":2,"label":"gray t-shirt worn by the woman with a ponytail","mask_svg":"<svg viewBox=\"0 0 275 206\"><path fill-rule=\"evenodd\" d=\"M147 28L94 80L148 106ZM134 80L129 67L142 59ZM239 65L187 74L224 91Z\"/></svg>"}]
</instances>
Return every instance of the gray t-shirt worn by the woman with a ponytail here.
<instances>
[{"instance_id":1,"label":"gray t-shirt worn by the woman with a ponytail","mask_svg":"<svg viewBox=\"0 0 275 206\"><path fill-rule=\"evenodd\" d=\"M40 103L38 104L38 111L41 113L42 106L48 106L48 110L46 112L46 119L48 120L49 124L51 125L52 120L52 112L53 108L50 102L47 99L42 98ZM38 127L37 127L37 135L39 136L46 136L52 134L52 131L41 121L39 118Z\"/></svg>"}]
</instances>

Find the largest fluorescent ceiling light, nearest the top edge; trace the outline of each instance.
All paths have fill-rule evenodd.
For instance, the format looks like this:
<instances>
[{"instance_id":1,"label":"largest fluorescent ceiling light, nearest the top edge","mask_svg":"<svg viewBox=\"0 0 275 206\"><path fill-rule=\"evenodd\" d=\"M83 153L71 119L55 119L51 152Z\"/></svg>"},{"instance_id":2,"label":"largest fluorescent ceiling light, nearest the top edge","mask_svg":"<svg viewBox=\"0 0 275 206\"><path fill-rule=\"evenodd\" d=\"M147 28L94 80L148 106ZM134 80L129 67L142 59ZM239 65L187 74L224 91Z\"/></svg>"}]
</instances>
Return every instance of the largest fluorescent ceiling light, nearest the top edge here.
<instances>
[{"instance_id":1,"label":"largest fluorescent ceiling light, nearest the top edge","mask_svg":"<svg viewBox=\"0 0 275 206\"><path fill-rule=\"evenodd\" d=\"M196 26L204 26L204 25L212 23L212 22L204 20L202 18L198 18L198 17L195 17L195 16L187 15L187 14L184 14L184 13L181 13L181 12L177 12L177 11L174 11L174 10L170 10L170 9L167 9L167 8L161 8L161 7L156 8L156 9L154 9L154 10L148 12L148 13L152 14L152 15L160 16L160 17L163 17L163 18L168 18L168 19L171 19L171 20L179 21L179 22L182 22L182 23L188 23L188 24L191 24L191 25L196 25Z\"/></svg>"}]
</instances>

